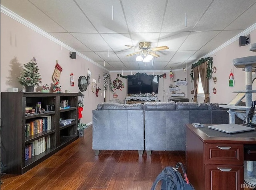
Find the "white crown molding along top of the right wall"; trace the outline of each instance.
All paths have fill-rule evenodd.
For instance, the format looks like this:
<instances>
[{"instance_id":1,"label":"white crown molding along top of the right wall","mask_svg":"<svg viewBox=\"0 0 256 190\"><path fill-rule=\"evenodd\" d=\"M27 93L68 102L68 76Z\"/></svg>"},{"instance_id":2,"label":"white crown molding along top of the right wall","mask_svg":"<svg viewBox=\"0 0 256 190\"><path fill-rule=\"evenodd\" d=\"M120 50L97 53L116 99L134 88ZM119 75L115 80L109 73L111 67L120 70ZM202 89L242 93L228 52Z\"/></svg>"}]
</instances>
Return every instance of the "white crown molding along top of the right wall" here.
<instances>
[{"instance_id":1,"label":"white crown molding along top of the right wall","mask_svg":"<svg viewBox=\"0 0 256 190\"><path fill-rule=\"evenodd\" d=\"M253 30L256 29L256 23L252 24L252 26L250 26L249 28L247 28L246 30L240 32L239 34L237 34L236 36L234 36L233 38L231 38L230 40L228 40L227 42L225 42L224 44L222 44L221 46L219 46L218 48L216 48L215 50L212 50L210 53L206 54L204 57L208 57L212 54L215 54L216 52L222 50L223 48L225 48L226 46L232 44L233 42L235 42L236 40L239 39L240 36L246 36L247 34L249 34L250 32L252 32ZM223 30L224 31L224 30ZM203 57L202 57L203 58ZM200 59L199 59L200 60Z\"/></svg>"}]
</instances>

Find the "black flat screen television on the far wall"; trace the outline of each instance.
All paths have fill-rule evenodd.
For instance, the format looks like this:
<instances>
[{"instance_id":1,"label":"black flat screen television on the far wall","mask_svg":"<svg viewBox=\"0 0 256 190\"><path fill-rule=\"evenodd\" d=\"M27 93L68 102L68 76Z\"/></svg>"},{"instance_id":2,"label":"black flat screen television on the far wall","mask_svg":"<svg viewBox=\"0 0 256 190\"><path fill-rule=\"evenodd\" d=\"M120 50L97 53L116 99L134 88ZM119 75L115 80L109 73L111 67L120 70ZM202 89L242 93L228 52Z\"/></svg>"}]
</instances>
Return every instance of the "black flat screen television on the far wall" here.
<instances>
[{"instance_id":1,"label":"black flat screen television on the far wall","mask_svg":"<svg viewBox=\"0 0 256 190\"><path fill-rule=\"evenodd\" d=\"M127 93L142 94L155 92L158 94L159 76L156 75L128 75Z\"/></svg>"}]
</instances>

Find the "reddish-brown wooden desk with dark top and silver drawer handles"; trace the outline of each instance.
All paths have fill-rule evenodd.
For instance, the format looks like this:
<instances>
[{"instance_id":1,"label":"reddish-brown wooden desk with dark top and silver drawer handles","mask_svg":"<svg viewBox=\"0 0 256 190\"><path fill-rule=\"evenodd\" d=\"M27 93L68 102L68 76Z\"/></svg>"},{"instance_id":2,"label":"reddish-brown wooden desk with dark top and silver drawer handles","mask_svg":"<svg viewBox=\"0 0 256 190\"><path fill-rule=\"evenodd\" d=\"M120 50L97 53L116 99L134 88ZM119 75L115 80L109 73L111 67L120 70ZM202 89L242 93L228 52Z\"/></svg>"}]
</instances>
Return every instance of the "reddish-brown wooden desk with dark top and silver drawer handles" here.
<instances>
[{"instance_id":1,"label":"reddish-brown wooden desk with dark top and silver drawer handles","mask_svg":"<svg viewBox=\"0 0 256 190\"><path fill-rule=\"evenodd\" d=\"M188 179L196 190L244 190L244 158L256 160L244 155L244 147L256 146L256 131L226 134L209 130L186 124Z\"/></svg>"}]
</instances>

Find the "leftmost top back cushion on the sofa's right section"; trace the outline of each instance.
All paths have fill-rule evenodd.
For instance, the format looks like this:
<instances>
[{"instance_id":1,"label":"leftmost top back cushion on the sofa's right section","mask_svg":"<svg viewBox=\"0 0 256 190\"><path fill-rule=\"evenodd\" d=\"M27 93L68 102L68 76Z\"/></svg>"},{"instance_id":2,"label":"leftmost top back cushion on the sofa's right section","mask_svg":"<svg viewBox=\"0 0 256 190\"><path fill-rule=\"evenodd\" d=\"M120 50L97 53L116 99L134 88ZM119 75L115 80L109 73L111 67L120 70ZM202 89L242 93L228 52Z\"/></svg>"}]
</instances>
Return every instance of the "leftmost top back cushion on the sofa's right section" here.
<instances>
[{"instance_id":1,"label":"leftmost top back cushion on the sofa's right section","mask_svg":"<svg viewBox=\"0 0 256 190\"><path fill-rule=\"evenodd\" d=\"M175 109L176 109L176 104L174 101L144 103L144 110L175 110Z\"/></svg>"}]
</instances>

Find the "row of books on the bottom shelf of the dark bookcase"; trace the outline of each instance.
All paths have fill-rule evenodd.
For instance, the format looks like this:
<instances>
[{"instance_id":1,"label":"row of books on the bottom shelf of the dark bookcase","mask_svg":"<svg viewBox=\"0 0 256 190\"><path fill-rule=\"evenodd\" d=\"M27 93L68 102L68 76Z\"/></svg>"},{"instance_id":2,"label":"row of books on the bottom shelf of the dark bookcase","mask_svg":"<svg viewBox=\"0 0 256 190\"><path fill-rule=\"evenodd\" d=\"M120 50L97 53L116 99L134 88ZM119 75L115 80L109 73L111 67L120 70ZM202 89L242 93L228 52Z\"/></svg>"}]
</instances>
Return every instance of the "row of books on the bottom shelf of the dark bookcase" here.
<instances>
[{"instance_id":1,"label":"row of books on the bottom shelf of the dark bookcase","mask_svg":"<svg viewBox=\"0 0 256 190\"><path fill-rule=\"evenodd\" d=\"M25 146L25 161L50 148L50 135L34 140Z\"/></svg>"}]
</instances>

